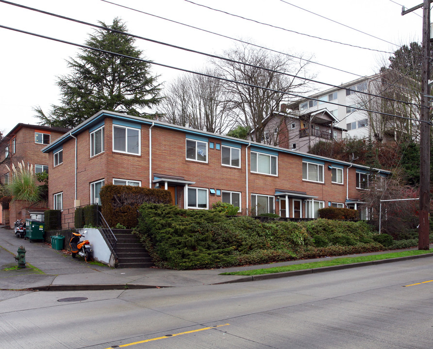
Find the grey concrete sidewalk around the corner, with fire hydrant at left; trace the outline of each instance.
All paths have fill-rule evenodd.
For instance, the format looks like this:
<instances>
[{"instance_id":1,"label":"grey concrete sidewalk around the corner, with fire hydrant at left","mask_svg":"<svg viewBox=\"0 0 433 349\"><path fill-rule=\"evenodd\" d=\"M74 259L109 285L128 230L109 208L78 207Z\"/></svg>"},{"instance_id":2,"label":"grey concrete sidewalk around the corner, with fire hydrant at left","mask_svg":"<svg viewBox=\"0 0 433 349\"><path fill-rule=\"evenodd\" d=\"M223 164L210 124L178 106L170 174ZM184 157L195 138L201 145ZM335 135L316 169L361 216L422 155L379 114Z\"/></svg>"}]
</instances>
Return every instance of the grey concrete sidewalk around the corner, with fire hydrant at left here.
<instances>
[{"instance_id":1,"label":"grey concrete sidewalk around the corner, with fire hydrant at left","mask_svg":"<svg viewBox=\"0 0 433 349\"><path fill-rule=\"evenodd\" d=\"M29 267L21 270L4 270L17 266L14 254L17 254L18 247L21 245L26 249L26 262L38 270L41 270L43 274L37 273L37 270ZM336 269L347 269L383 262L388 263L396 260L433 256L433 253L423 254L421 256L395 258L374 263L358 263L356 265L343 265L315 270L289 271L251 277L218 274L225 271L271 268L283 265L308 263L312 260L289 261L260 266L256 265L211 270L167 270L157 268L111 269L105 266L88 264L79 257L73 259L70 254L67 255L61 251L56 251L45 242L30 242L29 240L17 238L13 230L1 227L0 247L0 290L102 290L214 285L286 277ZM318 258L313 261L329 260L333 258L339 257Z\"/></svg>"}]
</instances>

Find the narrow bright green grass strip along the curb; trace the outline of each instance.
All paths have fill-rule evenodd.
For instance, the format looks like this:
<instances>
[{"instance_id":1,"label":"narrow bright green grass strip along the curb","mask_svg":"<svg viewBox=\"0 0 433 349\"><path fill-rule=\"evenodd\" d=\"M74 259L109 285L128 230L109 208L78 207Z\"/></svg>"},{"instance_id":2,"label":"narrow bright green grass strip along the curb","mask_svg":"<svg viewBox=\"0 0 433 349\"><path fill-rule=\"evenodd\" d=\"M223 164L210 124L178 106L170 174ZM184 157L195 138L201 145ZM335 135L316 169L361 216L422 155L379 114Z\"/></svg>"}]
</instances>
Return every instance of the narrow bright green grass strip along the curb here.
<instances>
[{"instance_id":1,"label":"narrow bright green grass strip along the curb","mask_svg":"<svg viewBox=\"0 0 433 349\"><path fill-rule=\"evenodd\" d=\"M331 267L331 266L343 265L343 264L370 262L370 261L390 259L390 258L427 254L432 252L433 250L427 250L427 251L414 250L414 251L392 252L387 254L372 254L372 255L363 255L359 257L335 258L335 259L311 262L311 263L292 264L283 267L224 272L219 275L263 275L263 274L272 274L272 273L283 272L283 271L315 269L315 268Z\"/></svg>"}]
</instances>

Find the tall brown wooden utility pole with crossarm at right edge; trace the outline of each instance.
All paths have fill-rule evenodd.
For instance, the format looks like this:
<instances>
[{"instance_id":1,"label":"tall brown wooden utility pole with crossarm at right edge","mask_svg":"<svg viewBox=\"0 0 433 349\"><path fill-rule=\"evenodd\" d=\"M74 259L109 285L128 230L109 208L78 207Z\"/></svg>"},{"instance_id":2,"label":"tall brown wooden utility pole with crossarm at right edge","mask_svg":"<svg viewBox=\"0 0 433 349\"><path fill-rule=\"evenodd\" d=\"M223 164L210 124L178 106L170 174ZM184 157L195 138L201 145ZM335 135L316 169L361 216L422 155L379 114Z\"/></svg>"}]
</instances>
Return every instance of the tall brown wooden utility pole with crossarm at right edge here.
<instances>
[{"instance_id":1,"label":"tall brown wooden utility pole with crossarm at right edge","mask_svg":"<svg viewBox=\"0 0 433 349\"><path fill-rule=\"evenodd\" d=\"M421 50L421 113L419 143L419 226L418 250L428 250L429 242L429 209L430 209L430 2L424 0L409 10L402 8L401 16L418 8L423 8L422 16L422 50Z\"/></svg>"}]
</instances>

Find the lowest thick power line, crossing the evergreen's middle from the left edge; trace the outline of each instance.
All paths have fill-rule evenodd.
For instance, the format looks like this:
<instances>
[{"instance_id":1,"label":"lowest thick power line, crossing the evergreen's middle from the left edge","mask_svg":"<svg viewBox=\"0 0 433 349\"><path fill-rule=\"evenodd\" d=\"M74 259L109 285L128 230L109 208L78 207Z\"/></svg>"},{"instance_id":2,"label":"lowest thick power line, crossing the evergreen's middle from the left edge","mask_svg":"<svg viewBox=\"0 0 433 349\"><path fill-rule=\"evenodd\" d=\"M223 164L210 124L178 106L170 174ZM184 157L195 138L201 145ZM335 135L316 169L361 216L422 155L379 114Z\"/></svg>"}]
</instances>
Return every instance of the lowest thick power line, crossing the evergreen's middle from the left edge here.
<instances>
[{"instance_id":1,"label":"lowest thick power line, crossing the evergreen's middle from the left edge","mask_svg":"<svg viewBox=\"0 0 433 349\"><path fill-rule=\"evenodd\" d=\"M250 83L247 83L247 82L243 82L243 81L226 79L226 78L217 77L217 76L206 74L206 73L201 73L201 72L197 72L197 71L193 71L193 70L189 70L189 69L175 67L175 66L172 66L172 65L164 64L164 63L157 63L157 62L145 60L145 59L142 59L142 58L131 57L131 56L127 56L127 55L124 55L124 54L121 54L121 53L117 53L117 52L107 51L107 50L103 50L103 49L100 49L100 48L93 48L93 47L90 47L90 46L87 46L87 45L77 44L77 43L73 43L73 42L70 42L70 41L62 40L62 39L56 39L56 38L53 38L53 37L50 37L50 36L41 35L41 34L37 34L37 33L34 33L34 32L27 32L27 31L23 31L23 30L20 30L20 29L17 29L17 28L7 27L7 26L1 25L1 24L0 24L0 28L11 30L11 31L14 31L14 32L20 32L20 33L23 33L23 34L28 34L28 35L32 35L32 36L36 36L36 37L40 37L40 38L43 38L43 39L48 39L48 40L51 40L51 41L61 42L63 44L72 45L72 46L76 46L76 47L80 47L80 48L84 48L84 49L88 49L88 50L95 50L95 51L99 51L99 52L103 52L103 53L108 53L108 54L112 54L112 55L115 55L115 56L118 56L118 57L132 59L132 60L135 60L135 61L140 61L140 62L149 63L149 64L155 64L155 65L162 66L162 67L165 67L165 68L175 69L175 70L183 71L183 72L186 72L186 73L196 74L196 75L200 75L200 76L204 76L204 77L208 77L208 78L212 78L212 79L219 79L219 80L222 80L222 81L231 82L231 83L235 83L235 84L239 84L239 85L249 86L249 87L253 87L253 88L259 88L259 89L270 91L270 92L281 93L283 95L291 95L291 96L294 96L294 97L297 97L297 98L303 98L303 99L310 99L310 100L320 101L319 99L312 98L312 97L304 97L304 96L293 94L293 93L290 93L290 92L284 92L284 91L280 91L280 90L271 89L271 88L268 88L268 87L262 87L262 86L253 85L253 84L250 84ZM337 105L337 106L347 107L344 104L339 104L339 103L334 103L334 102L327 102L327 103L333 104L333 105ZM428 124L430 126L433 126L433 124L432 124L431 121L422 121L422 120L417 120L417 119L412 119L412 118L406 118L406 117L399 116L399 115L389 114L389 113L385 113L385 112L371 111L371 110L362 109L362 108L359 108L359 107L353 107L353 108L357 109L357 110L361 110L361 111L375 112L375 113L378 113L378 114L388 115L388 116L397 117L397 118L406 119L406 120L412 120L412 121L417 121L417 122L424 122L424 123L426 123L426 124Z\"/></svg>"}]
</instances>

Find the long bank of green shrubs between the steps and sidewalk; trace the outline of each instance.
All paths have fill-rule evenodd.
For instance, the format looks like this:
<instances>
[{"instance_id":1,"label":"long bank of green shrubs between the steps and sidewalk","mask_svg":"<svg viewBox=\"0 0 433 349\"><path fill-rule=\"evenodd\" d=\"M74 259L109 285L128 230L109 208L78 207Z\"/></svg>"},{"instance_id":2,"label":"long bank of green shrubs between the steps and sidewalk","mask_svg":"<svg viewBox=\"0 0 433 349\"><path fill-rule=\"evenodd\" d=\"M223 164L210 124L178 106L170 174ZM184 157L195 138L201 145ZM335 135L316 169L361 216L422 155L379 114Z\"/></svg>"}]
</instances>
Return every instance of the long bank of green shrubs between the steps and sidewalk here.
<instances>
[{"instance_id":1,"label":"long bank of green shrubs between the steps and sidewalk","mask_svg":"<svg viewBox=\"0 0 433 349\"><path fill-rule=\"evenodd\" d=\"M364 221L261 222L155 204L139 210L135 233L160 268L228 267L384 249Z\"/></svg>"}]
</instances>

